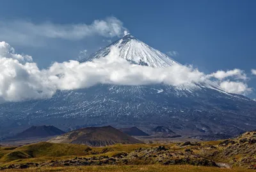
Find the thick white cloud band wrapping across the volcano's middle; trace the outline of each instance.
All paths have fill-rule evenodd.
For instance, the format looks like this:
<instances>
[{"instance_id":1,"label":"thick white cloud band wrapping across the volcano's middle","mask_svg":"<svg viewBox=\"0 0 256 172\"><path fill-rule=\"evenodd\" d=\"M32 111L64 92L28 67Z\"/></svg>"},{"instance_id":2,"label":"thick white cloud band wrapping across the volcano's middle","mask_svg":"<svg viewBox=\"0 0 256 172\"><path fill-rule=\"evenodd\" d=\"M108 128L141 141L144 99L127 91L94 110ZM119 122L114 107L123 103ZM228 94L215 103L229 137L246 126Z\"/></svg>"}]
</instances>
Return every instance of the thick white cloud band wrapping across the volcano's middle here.
<instances>
[{"instance_id":1,"label":"thick white cloud band wrapping across the volcano's middle","mask_svg":"<svg viewBox=\"0 0 256 172\"><path fill-rule=\"evenodd\" d=\"M0 42L0 100L21 101L50 98L57 90L88 88L95 84L145 85L168 84L180 86L205 82L216 77L216 82L225 91L248 93L250 88L243 82L223 81L225 77L244 79L241 70L216 72L205 75L193 66L175 64L166 68L152 68L129 63L119 57L118 49L111 48L106 58L94 59L85 63L66 61L53 63L40 70L28 55L16 54L13 47ZM224 77L220 77L219 73ZM244 85L241 85L244 84Z\"/></svg>"}]
</instances>

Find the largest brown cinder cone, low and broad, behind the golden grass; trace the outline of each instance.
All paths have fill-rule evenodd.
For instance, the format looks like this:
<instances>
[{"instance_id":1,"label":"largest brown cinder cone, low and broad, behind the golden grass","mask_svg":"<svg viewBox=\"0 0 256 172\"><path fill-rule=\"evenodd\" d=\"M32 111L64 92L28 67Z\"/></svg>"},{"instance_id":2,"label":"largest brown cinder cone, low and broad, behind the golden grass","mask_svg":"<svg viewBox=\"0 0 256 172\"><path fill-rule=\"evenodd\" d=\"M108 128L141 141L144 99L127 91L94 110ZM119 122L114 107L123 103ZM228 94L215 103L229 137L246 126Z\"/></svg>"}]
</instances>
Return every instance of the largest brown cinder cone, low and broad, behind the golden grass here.
<instances>
[{"instance_id":1,"label":"largest brown cinder cone, low and broad, behind the golden grass","mask_svg":"<svg viewBox=\"0 0 256 172\"><path fill-rule=\"evenodd\" d=\"M88 127L78 129L61 136L57 136L50 143L74 143L88 146L108 146L116 143L136 144L142 143L138 139L131 137L111 126Z\"/></svg>"}]
</instances>

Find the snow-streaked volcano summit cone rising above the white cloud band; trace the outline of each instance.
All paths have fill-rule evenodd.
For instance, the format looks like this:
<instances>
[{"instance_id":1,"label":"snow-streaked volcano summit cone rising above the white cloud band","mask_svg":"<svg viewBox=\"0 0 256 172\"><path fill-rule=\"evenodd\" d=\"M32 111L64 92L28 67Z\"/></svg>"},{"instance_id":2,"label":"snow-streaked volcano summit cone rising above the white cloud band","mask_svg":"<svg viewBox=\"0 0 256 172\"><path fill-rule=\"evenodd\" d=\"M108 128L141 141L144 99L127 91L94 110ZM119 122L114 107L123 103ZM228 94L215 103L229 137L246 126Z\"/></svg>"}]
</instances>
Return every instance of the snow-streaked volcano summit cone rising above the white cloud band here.
<instances>
[{"instance_id":1,"label":"snow-streaked volcano summit cone rising above the white cloud band","mask_svg":"<svg viewBox=\"0 0 256 172\"><path fill-rule=\"evenodd\" d=\"M127 34L116 42L111 43L104 49L100 49L100 51L95 52L82 62L107 56L112 46L118 48L121 58L127 59L134 64L163 68L177 63L166 54L157 51L130 34Z\"/></svg>"}]
</instances>

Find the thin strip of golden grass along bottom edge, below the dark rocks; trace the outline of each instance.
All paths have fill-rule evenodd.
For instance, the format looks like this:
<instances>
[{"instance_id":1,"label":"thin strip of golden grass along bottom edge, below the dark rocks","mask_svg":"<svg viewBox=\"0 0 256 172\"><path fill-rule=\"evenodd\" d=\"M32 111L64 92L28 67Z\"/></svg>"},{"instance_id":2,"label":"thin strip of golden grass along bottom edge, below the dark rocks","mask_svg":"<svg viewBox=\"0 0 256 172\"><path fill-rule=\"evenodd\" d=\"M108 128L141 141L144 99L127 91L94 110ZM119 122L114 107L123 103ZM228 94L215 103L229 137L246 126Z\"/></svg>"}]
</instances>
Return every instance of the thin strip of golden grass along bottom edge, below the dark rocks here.
<instances>
[{"instance_id":1,"label":"thin strip of golden grass along bottom edge, below the dark rocks","mask_svg":"<svg viewBox=\"0 0 256 172\"><path fill-rule=\"evenodd\" d=\"M29 169L6 169L6 172L11 171L22 171L22 172L33 172L33 171L92 171L92 172L125 172L125 171L163 171L163 172L250 172L255 170L250 169L225 169L225 168L211 168L211 167L202 167L202 166L163 166L163 165L144 165L144 166L79 166L79 167L58 167L58 168L29 168Z\"/></svg>"}]
</instances>

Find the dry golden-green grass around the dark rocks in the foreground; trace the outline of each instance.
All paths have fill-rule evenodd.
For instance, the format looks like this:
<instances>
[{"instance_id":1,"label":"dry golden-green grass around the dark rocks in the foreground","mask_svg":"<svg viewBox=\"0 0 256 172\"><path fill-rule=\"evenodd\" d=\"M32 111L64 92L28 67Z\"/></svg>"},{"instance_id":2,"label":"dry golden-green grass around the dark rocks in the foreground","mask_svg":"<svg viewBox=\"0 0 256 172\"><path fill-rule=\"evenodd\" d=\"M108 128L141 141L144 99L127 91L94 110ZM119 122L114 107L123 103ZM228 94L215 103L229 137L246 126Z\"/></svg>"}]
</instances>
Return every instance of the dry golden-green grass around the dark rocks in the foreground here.
<instances>
[{"instance_id":1,"label":"dry golden-green grass around the dark rocks in the foreground","mask_svg":"<svg viewBox=\"0 0 256 172\"><path fill-rule=\"evenodd\" d=\"M223 151L225 147L218 146L221 141L206 141L200 142L201 146L179 146L177 143L165 144L173 152L185 152L186 149L191 149L195 154L202 157L218 151ZM36 143L21 147L0 147L0 167L8 167L10 164L26 164L27 162L41 163L50 162L51 160L68 160L74 157L93 157L93 156L109 156L112 157L117 153L125 152L130 153L138 148L152 148L163 144L136 144L136 145L122 145L116 144L106 147L88 147L86 145L73 145L73 144L54 144L54 143ZM216 149L208 149L207 145L216 146ZM217 149L218 148L218 149ZM234 157L234 156L233 156ZM207 159L214 160L215 162L230 163L233 157L223 158L220 156L209 156ZM236 155L238 160L243 157ZM70 167L55 167L55 168L30 168L30 169L7 169L6 171L251 171L243 166L243 169L221 169L209 168L203 166L161 166L155 165L141 165L143 163L134 163L138 166L70 166ZM150 163L148 163L150 164ZM237 164L233 164L235 167Z\"/></svg>"}]
</instances>

